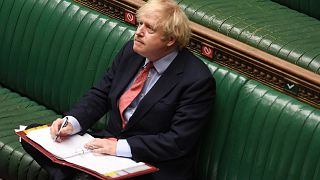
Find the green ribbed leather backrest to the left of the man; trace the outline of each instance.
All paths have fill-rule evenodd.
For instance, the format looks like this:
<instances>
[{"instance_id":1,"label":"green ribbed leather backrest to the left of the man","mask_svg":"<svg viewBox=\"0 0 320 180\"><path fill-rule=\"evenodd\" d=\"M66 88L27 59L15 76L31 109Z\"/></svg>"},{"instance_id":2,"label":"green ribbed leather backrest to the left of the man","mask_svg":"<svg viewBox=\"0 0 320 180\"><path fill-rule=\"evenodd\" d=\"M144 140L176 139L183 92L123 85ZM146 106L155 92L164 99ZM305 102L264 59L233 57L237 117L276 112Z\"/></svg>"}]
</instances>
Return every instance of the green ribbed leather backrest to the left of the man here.
<instances>
[{"instance_id":1,"label":"green ribbed leather backrest to the left of the man","mask_svg":"<svg viewBox=\"0 0 320 180\"><path fill-rule=\"evenodd\" d=\"M0 0L0 84L65 111L134 31L71 0Z\"/></svg>"}]
</instances>

